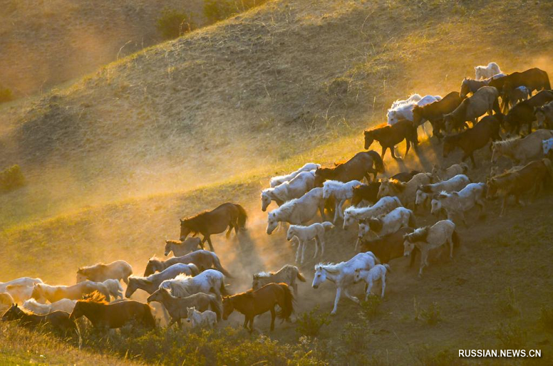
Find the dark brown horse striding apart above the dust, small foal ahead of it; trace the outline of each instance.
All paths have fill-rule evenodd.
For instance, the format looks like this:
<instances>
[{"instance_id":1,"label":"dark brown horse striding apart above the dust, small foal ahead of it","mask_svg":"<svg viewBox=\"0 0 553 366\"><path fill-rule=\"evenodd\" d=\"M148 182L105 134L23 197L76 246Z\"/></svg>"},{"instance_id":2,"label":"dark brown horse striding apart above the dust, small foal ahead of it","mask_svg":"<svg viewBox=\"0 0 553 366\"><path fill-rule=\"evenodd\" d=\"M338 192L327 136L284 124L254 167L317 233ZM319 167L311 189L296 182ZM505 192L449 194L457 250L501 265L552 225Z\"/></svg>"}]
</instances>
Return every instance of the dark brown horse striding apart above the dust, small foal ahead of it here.
<instances>
[{"instance_id":1,"label":"dark brown horse striding apart above the dust, small foal ahead of it","mask_svg":"<svg viewBox=\"0 0 553 366\"><path fill-rule=\"evenodd\" d=\"M226 202L211 211L205 211L196 216L180 219L180 240L185 241L189 233L194 236L196 234L203 235L200 243L202 249L203 244L207 240L209 248L213 250L212 239L209 237L212 234L219 234L227 230L227 238L230 236L232 228L238 235L238 229L245 228L247 214L241 205L236 203Z\"/></svg>"}]
</instances>

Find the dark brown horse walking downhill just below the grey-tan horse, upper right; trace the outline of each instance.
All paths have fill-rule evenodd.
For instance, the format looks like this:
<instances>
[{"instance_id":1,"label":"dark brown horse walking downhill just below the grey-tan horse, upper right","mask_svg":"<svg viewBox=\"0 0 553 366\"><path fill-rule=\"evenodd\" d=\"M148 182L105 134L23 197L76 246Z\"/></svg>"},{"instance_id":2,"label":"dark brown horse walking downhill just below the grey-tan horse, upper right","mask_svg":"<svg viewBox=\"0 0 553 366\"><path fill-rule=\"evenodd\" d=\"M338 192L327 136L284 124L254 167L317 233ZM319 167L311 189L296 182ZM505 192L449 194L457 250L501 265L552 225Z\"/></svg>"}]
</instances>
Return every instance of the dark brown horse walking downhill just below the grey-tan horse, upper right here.
<instances>
[{"instance_id":1,"label":"dark brown horse walking downhill just below the grey-tan horse, upper right","mask_svg":"<svg viewBox=\"0 0 553 366\"><path fill-rule=\"evenodd\" d=\"M464 153L461 161L471 158L472 167L476 167L474 152L485 147L489 140L501 140L499 129L502 120L503 114L501 113L485 116L473 128L462 131L460 134L446 136L444 138L444 158L447 158L449 153L459 147Z\"/></svg>"}]
</instances>

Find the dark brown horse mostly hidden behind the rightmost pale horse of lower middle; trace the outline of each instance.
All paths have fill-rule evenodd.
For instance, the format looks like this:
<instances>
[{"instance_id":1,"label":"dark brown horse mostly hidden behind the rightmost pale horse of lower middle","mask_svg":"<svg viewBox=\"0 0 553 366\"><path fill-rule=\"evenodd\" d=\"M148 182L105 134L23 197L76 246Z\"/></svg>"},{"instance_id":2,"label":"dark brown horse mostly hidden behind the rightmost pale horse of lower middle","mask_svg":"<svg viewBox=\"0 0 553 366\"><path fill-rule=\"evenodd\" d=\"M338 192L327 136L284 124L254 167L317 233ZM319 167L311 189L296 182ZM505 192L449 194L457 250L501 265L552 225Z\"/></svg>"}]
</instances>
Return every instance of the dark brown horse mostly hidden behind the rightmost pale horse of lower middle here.
<instances>
[{"instance_id":1,"label":"dark brown horse mostly hidden behind the rightmost pale horse of lower middle","mask_svg":"<svg viewBox=\"0 0 553 366\"><path fill-rule=\"evenodd\" d=\"M403 257L403 236L411 234L413 230L413 228L401 228L393 234L384 235L384 237L371 240L363 239L361 241L361 246L359 246L360 253L373 252L382 264L388 263L392 259ZM411 262L409 266L413 266L417 252L418 249L415 249L413 250L413 253L411 253Z\"/></svg>"}]
</instances>

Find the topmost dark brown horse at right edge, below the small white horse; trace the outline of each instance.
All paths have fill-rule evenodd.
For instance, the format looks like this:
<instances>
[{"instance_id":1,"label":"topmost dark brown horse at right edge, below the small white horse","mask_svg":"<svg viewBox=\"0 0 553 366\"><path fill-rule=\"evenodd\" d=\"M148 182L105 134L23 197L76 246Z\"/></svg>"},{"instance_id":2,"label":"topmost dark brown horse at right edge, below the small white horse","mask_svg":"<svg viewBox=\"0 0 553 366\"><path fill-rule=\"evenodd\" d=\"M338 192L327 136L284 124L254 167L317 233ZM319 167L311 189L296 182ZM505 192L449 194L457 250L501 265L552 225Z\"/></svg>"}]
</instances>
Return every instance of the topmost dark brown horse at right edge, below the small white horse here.
<instances>
[{"instance_id":1,"label":"topmost dark brown horse at right edge, below the small white horse","mask_svg":"<svg viewBox=\"0 0 553 366\"><path fill-rule=\"evenodd\" d=\"M494 86L499 91L503 111L506 111L509 105L509 94L512 89L516 89L518 86L526 86L530 93L541 89L551 89L549 76L539 68L530 68L522 73L515 72L504 77L499 77L498 79L491 80L489 86Z\"/></svg>"}]
</instances>

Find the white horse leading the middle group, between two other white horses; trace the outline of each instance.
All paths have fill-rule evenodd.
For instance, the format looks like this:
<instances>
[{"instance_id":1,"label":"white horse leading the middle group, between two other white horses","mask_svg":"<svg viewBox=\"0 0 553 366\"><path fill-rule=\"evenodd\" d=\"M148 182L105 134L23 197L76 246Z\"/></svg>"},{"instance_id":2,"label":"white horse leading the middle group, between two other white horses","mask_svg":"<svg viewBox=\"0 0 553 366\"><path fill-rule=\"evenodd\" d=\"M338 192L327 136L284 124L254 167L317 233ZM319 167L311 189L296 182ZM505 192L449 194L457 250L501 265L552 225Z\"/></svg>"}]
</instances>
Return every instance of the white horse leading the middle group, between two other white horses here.
<instances>
[{"instance_id":1,"label":"white horse leading the middle group, between two other white horses","mask_svg":"<svg viewBox=\"0 0 553 366\"><path fill-rule=\"evenodd\" d=\"M315 170L301 172L291 181L283 182L277 187L267 188L261 191L261 211L265 212L268 205L275 201L282 205L291 199L299 199L315 187Z\"/></svg>"}]
</instances>

